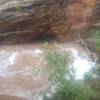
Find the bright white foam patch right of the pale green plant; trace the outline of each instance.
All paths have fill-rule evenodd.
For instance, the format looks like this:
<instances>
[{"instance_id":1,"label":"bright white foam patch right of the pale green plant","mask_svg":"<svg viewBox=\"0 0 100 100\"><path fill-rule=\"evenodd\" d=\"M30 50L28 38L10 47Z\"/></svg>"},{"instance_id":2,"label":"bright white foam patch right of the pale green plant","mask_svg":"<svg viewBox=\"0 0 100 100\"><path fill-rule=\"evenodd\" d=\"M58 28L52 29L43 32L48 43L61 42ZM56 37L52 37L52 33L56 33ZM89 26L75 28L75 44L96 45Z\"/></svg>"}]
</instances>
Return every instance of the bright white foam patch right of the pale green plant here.
<instances>
[{"instance_id":1,"label":"bright white foam patch right of the pale green plant","mask_svg":"<svg viewBox=\"0 0 100 100\"><path fill-rule=\"evenodd\" d=\"M70 66L75 69L75 79L83 79L85 73L89 72L89 70L93 67L94 63L86 57L83 58L79 56L80 52L78 52L74 48L63 50L71 51L71 55L74 57L73 64Z\"/></svg>"}]
</instances>

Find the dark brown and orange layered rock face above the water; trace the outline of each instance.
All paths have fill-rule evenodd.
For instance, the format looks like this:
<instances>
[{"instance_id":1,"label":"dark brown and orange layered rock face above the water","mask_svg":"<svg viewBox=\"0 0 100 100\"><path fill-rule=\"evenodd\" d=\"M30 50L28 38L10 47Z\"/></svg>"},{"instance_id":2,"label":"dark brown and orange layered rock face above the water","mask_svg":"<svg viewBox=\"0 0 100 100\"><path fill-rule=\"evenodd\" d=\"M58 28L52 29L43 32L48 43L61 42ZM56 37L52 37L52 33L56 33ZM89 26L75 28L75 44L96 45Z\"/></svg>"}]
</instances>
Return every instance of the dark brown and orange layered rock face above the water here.
<instances>
[{"instance_id":1,"label":"dark brown and orange layered rock face above the water","mask_svg":"<svg viewBox=\"0 0 100 100\"><path fill-rule=\"evenodd\" d=\"M53 36L77 39L93 25L97 0L1 0L0 43L31 42ZM93 19L92 19L93 20Z\"/></svg>"}]
</instances>

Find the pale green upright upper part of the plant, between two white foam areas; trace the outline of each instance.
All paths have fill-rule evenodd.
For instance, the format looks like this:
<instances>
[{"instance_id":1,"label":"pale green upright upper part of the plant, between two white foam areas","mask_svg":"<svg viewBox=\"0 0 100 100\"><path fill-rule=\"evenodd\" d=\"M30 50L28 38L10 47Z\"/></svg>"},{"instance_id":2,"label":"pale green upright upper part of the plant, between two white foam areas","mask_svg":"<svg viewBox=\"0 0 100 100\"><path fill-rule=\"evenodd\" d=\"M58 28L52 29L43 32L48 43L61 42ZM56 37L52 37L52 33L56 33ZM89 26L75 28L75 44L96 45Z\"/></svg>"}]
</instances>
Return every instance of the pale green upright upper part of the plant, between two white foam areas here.
<instances>
[{"instance_id":1,"label":"pale green upright upper part of the plant, between two white foam areas","mask_svg":"<svg viewBox=\"0 0 100 100\"><path fill-rule=\"evenodd\" d=\"M46 70L48 79L55 82L63 81L68 64L68 54L59 50L52 50L47 52L45 59L47 60Z\"/></svg>"}]
</instances>

